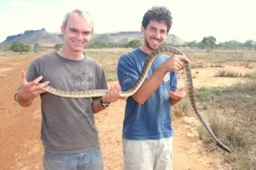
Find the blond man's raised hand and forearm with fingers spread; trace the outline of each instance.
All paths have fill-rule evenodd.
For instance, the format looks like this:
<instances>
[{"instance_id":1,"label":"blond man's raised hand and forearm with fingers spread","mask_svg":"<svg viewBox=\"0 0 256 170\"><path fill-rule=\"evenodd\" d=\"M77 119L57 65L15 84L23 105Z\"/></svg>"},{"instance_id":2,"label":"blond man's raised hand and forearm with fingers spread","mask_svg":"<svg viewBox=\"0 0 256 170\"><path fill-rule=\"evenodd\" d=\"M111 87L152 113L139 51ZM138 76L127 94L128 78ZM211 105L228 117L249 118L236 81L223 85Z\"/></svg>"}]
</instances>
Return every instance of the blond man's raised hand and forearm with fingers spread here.
<instances>
[{"instance_id":1,"label":"blond man's raised hand and forearm with fingers spread","mask_svg":"<svg viewBox=\"0 0 256 170\"><path fill-rule=\"evenodd\" d=\"M34 81L27 82L26 73L22 70L21 86L18 93L14 96L15 101L22 107L29 107L32 104L34 97L38 97L41 93L46 93L42 88L49 85L50 82L46 81L41 85L37 85L41 80L42 76L36 78Z\"/></svg>"}]
</instances>

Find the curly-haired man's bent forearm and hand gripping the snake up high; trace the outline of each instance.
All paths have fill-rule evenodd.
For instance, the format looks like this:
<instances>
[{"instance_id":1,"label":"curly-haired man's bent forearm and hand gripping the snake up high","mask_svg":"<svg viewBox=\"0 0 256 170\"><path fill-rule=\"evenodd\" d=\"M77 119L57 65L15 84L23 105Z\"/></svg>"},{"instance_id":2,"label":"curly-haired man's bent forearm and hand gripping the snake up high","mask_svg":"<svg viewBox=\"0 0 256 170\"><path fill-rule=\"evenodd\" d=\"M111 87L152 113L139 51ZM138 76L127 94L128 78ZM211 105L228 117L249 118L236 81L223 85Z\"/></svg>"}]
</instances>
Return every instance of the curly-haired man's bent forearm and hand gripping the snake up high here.
<instances>
[{"instance_id":1,"label":"curly-haired man's bent forearm and hand gripping the snake up high","mask_svg":"<svg viewBox=\"0 0 256 170\"><path fill-rule=\"evenodd\" d=\"M190 62L187 57L182 55L174 55L173 57L168 58L161 65L155 69L154 73L143 82L142 86L134 95L134 101L142 105L144 102L158 89L158 86L161 84L163 77L166 73L179 71L183 69L183 61Z\"/></svg>"}]
</instances>

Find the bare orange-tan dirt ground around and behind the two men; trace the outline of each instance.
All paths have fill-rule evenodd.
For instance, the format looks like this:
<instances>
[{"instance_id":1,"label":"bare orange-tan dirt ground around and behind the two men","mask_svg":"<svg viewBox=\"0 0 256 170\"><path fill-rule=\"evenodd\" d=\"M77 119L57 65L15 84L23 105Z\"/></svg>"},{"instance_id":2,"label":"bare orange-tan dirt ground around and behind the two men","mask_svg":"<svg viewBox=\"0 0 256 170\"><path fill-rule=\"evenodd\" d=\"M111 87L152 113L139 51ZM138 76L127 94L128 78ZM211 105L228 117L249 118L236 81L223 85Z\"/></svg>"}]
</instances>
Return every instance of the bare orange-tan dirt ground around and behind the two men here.
<instances>
[{"instance_id":1,"label":"bare orange-tan dirt ground around and behind the two men","mask_svg":"<svg viewBox=\"0 0 256 170\"><path fill-rule=\"evenodd\" d=\"M0 169L1 170L42 170L43 147L40 140L41 112L40 99L34 100L29 108L22 108L14 101L14 93L20 85L21 70L26 70L30 61L40 53L17 56L0 55ZM226 68L246 73L255 69L233 66L226 62ZM238 64L235 64L238 65ZM194 88L206 86L228 86L245 78L214 77L219 68L193 69ZM198 73L196 73L198 72ZM180 73L180 76L182 74ZM179 86L184 86L181 78ZM110 82L109 85L117 84ZM99 130L106 170L122 170L122 120L125 101L112 103L109 108L95 114ZM227 153L207 152L193 126L199 124L196 117L184 115L174 117L174 170L229 169L223 163Z\"/></svg>"}]
</instances>

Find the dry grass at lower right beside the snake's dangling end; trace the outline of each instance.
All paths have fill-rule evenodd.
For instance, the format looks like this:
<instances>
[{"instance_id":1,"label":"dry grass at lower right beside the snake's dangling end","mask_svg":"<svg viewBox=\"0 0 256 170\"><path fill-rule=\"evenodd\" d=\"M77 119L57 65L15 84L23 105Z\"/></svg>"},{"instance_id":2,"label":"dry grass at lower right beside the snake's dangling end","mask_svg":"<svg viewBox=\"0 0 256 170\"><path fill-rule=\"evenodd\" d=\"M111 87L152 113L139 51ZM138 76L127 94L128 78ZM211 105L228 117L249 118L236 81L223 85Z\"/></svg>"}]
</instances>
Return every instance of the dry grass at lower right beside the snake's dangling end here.
<instances>
[{"instance_id":1,"label":"dry grass at lower right beside the snake's dangling end","mask_svg":"<svg viewBox=\"0 0 256 170\"><path fill-rule=\"evenodd\" d=\"M256 81L230 87L195 89L200 109L206 109L206 121L220 141L230 147L232 154L223 157L233 169L256 168ZM210 137L202 126L199 138L205 140L206 150ZM218 149L214 147L214 149Z\"/></svg>"}]
</instances>

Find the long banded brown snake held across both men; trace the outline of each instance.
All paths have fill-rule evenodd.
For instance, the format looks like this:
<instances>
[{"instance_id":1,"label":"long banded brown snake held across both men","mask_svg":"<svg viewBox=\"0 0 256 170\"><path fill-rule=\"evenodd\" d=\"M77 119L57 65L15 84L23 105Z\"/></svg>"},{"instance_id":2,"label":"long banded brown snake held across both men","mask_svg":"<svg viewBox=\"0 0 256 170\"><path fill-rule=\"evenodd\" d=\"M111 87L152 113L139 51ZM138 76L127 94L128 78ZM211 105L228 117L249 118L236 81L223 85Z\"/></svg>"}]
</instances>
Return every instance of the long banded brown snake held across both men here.
<instances>
[{"instance_id":1,"label":"long banded brown snake held across both men","mask_svg":"<svg viewBox=\"0 0 256 170\"><path fill-rule=\"evenodd\" d=\"M152 65L155 58L157 58L160 54L165 53L166 55L185 55L180 51L179 49L172 47L172 46L162 46L158 49L155 49L152 53L150 53L149 57L147 57L145 65L143 66L142 73L138 77L138 80L135 82L134 86L131 89L128 89L126 91L122 91L121 97L130 97L136 91L141 87L142 83L145 81L147 73L150 69L150 66ZM207 125L206 121L203 119L201 113L198 110L197 105L194 101L194 89L193 89L193 81L192 81L192 74L190 71L190 65L186 63L186 61L183 61L184 63L184 77L185 77L185 85L186 85L186 92L187 96L190 100L190 105L192 109L194 110L194 113L198 116L199 120L202 122L202 125L206 128L207 132L210 133L210 136L214 143L218 145L218 147L222 148L226 152L231 152L230 148L226 147L226 145L222 144L217 137L214 135L214 132L210 129L209 125ZM88 91L62 91L58 89L54 89L50 87L50 85L47 85L45 88L48 93L54 94L59 97L102 97L106 95L107 89L96 89L96 90L88 90Z\"/></svg>"}]
</instances>

